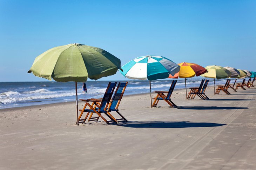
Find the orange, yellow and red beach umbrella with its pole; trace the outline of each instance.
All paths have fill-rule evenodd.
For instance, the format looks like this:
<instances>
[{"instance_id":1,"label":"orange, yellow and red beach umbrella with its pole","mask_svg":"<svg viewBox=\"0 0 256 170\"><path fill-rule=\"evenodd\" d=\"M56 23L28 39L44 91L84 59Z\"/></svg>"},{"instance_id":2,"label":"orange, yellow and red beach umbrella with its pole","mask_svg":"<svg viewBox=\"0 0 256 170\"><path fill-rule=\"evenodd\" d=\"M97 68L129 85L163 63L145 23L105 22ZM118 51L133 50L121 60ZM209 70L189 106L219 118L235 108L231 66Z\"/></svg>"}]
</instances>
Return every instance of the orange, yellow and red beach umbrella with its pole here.
<instances>
[{"instance_id":1,"label":"orange, yellow and red beach umbrella with its pole","mask_svg":"<svg viewBox=\"0 0 256 170\"><path fill-rule=\"evenodd\" d=\"M200 76L201 74L204 74L207 72L207 69L203 68L202 66L190 62L181 62L178 64L181 68L178 73L176 73L174 76L169 75L169 78L177 79L185 78L185 87L186 87L186 98L187 98L187 82L186 78L194 77L194 76Z\"/></svg>"}]
</instances>

